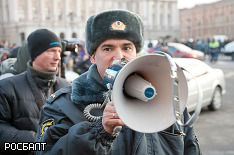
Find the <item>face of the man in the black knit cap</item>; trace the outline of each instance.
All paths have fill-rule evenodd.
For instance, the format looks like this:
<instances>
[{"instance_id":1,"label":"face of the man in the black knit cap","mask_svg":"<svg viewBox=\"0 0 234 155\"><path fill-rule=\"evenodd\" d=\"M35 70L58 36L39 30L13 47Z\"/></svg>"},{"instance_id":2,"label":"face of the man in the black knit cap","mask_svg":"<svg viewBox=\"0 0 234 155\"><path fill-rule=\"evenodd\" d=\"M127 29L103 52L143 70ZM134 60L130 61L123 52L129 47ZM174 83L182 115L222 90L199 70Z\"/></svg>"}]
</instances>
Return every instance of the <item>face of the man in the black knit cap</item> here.
<instances>
[{"instance_id":1,"label":"face of the man in the black knit cap","mask_svg":"<svg viewBox=\"0 0 234 155\"><path fill-rule=\"evenodd\" d=\"M56 71L59 61L61 60L62 49L60 47L52 47L42 54L38 55L33 61L33 68L43 72Z\"/></svg>"}]
</instances>

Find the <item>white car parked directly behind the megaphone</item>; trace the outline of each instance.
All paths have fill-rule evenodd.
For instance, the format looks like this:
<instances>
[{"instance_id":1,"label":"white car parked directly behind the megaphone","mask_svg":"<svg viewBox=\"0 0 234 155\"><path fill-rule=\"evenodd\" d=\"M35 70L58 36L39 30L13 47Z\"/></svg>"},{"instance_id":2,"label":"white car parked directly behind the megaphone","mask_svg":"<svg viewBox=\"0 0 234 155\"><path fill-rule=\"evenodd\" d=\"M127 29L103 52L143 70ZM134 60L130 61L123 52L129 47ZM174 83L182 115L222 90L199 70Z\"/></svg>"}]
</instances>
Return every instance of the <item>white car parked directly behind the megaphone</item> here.
<instances>
[{"instance_id":1,"label":"white car parked directly behind the megaphone","mask_svg":"<svg viewBox=\"0 0 234 155\"><path fill-rule=\"evenodd\" d=\"M197 59L174 58L175 62L184 69L188 82L188 111L194 111L198 103L198 85L202 91L202 107L218 110L222 105L225 79L221 69L211 68Z\"/></svg>"}]
</instances>

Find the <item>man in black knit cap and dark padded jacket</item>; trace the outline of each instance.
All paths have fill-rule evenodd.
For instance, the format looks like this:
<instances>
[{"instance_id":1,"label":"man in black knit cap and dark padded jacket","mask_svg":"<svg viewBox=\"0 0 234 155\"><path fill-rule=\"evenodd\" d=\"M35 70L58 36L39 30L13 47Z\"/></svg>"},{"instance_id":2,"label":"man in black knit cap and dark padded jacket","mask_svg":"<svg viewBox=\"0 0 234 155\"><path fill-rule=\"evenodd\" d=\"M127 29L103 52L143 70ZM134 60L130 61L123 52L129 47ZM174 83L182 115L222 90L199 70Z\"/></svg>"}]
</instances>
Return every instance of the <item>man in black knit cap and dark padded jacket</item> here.
<instances>
[{"instance_id":1,"label":"man in black knit cap and dark padded jacket","mask_svg":"<svg viewBox=\"0 0 234 155\"><path fill-rule=\"evenodd\" d=\"M27 70L0 81L0 154L30 153L22 142L35 141L41 107L53 92L70 85L56 77L60 39L47 29L38 29L27 40L31 55Z\"/></svg>"}]
</instances>

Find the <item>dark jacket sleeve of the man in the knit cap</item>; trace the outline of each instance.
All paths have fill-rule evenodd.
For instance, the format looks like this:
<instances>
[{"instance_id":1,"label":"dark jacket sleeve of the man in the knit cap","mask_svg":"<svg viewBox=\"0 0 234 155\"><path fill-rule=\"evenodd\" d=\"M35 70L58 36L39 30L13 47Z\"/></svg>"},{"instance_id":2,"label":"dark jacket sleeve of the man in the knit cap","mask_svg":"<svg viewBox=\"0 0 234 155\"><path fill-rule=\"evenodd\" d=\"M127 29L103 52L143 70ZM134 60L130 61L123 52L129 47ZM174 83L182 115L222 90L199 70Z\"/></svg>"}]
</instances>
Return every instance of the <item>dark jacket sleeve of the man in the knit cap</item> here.
<instances>
[{"instance_id":1,"label":"dark jacket sleeve of the man in the knit cap","mask_svg":"<svg viewBox=\"0 0 234 155\"><path fill-rule=\"evenodd\" d=\"M5 142L34 142L35 132L18 130L11 124L11 97L0 87L0 150L4 150Z\"/></svg>"}]
</instances>

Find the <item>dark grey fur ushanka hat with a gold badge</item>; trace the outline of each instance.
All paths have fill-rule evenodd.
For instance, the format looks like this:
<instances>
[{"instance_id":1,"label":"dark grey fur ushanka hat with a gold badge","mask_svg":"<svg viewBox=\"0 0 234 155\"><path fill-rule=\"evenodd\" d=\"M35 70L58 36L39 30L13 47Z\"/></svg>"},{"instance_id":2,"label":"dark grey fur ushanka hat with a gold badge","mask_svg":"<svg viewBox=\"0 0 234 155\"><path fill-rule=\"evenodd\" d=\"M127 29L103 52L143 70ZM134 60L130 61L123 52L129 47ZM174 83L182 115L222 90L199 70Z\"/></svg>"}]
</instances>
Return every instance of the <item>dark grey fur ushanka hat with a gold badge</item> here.
<instances>
[{"instance_id":1,"label":"dark grey fur ushanka hat with a gold badge","mask_svg":"<svg viewBox=\"0 0 234 155\"><path fill-rule=\"evenodd\" d=\"M136 51L143 47L144 27L141 18L127 10L110 10L91 16L86 24L86 49L91 56L107 39L127 39Z\"/></svg>"}]
</instances>

